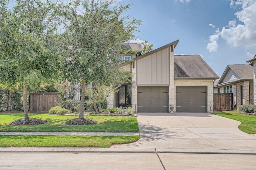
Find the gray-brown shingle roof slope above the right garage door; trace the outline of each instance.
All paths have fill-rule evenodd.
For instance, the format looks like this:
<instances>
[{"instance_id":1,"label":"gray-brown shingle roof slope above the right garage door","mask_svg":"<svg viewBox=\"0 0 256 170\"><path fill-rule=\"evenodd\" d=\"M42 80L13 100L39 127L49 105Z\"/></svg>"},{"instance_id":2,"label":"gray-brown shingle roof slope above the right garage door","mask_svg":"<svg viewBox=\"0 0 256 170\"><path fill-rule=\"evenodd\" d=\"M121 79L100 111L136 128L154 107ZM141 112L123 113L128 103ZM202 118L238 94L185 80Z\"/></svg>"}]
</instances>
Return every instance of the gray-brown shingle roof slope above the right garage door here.
<instances>
[{"instance_id":1,"label":"gray-brown shingle roof slope above the right garage door","mask_svg":"<svg viewBox=\"0 0 256 170\"><path fill-rule=\"evenodd\" d=\"M174 64L174 78L219 78L200 55L175 55Z\"/></svg>"}]
</instances>

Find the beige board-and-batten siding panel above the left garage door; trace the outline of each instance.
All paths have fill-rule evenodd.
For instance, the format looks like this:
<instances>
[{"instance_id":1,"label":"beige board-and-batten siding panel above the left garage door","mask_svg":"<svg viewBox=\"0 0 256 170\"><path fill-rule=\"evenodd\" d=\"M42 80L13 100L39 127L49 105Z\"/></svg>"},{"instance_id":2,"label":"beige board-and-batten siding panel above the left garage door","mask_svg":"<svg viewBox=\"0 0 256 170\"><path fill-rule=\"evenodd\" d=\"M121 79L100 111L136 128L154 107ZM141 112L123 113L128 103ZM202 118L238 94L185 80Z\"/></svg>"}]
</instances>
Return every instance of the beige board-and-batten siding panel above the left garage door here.
<instances>
[{"instance_id":1,"label":"beige board-and-batten siding panel above the left garage door","mask_svg":"<svg viewBox=\"0 0 256 170\"><path fill-rule=\"evenodd\" d=\"M137 60L137 86L169 86L169 48Z\"/></svg>"}]
</instances>

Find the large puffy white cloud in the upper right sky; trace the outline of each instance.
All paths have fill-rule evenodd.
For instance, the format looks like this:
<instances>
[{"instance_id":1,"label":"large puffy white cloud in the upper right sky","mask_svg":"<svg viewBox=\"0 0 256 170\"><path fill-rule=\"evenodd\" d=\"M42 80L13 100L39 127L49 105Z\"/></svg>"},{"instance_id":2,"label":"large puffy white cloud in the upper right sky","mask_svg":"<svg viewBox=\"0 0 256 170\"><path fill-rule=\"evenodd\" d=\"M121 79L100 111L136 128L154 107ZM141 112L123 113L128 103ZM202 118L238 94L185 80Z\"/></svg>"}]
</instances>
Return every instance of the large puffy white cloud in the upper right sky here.
<instances>
[{"instance_id":1,"label":"large puffy white cloud in the upper right sky","mask_svg":"<svg viewBox=\"0 0 256 170\"><path fill-rule=\"evenodd\" d=\"M230 6L241 6L235 15L242 24L237 24L236 20L231 20L227 26L222 27L221 31L217 28L218 32L215 31L209 37L207 49L210 52L218 50L219 37L233 47L255 48L256 46L256 0L230 0Z\"/></svg>"}]
</instances>

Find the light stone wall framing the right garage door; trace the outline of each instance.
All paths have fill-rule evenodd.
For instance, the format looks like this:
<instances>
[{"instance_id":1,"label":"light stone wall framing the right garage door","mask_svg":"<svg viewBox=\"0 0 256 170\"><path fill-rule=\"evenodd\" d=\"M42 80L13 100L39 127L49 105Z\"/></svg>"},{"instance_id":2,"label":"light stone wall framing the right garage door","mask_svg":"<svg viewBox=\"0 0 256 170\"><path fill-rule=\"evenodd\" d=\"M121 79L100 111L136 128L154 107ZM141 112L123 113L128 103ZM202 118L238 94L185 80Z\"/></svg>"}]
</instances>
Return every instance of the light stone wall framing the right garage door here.
<instances>
[{"instance_id":1,"label":"light stone wall framing the right garage door","mask_svg":"<svg viewBox=\"0 0 256 170\"><path fill-rule=\"evenodd\" d=\"M212 80L174 80L176 92L176 86L207 86L207 111L213 112L213 81ZM174 93L176 94L176 93ZM176 100L176 95L174 96ZM175 108L174 108L175 109Z\"/></svg>"}]
</instances>

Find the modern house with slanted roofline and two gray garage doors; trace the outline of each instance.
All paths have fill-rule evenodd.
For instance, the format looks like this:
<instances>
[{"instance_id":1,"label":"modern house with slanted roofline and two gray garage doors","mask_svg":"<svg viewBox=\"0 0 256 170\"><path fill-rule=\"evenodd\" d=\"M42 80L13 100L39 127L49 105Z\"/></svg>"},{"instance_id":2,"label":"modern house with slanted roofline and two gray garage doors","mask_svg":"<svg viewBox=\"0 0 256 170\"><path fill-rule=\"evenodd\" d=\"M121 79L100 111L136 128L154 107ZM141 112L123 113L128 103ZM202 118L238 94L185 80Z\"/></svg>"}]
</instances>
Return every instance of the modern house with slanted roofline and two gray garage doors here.
<instances>
[{"instance_id":1,"label":"modern house with slanted roofline and two gray garage doors","mask_svg":"<svg viewBox=\"0 0 256 170\"><path fill-rule=\"evenodd\" d=\"M213 81L219 77L200 55L174 55L178 40L121 65L134 73L108 98L108 107L136 112L212 112Z\"/></svg>"}]
</instances>

